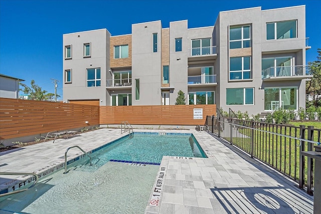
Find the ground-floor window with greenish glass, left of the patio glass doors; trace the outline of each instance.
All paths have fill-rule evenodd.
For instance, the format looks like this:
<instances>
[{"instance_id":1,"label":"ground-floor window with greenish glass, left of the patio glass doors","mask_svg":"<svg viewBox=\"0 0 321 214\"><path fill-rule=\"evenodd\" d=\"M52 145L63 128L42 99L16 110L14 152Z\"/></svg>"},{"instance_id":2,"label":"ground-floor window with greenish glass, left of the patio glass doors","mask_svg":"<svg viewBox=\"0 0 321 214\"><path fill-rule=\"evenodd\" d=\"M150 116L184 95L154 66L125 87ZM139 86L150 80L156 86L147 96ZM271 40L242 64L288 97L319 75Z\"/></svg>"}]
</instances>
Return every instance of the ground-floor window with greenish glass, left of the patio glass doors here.
<instances>
[{"instance_id":1,"label":"ground-floor window with greenish glass, left of the patio glass doors","mask_svg":"<svg viewBox=\"0 0 321 214\"><path fill-rule=\"evenodd\" d=\"M254 105L254 88L227 88L226 105Z\"/></svg>"}]
</instances>

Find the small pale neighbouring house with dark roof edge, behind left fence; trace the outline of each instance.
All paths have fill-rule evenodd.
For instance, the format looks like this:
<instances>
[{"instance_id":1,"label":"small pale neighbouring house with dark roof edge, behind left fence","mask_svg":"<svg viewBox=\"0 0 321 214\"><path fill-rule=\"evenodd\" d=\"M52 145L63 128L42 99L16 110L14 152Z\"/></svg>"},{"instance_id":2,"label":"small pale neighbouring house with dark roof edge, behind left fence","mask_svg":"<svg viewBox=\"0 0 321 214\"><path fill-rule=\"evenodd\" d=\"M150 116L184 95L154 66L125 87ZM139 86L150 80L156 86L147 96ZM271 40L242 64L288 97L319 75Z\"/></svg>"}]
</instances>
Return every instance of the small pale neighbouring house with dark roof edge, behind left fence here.
<instances>
[{"instance_id":1,"label":"small pale neighbouring house with dark roof edge, behind left fence","mask_svg":"<svg viewBox=\"0 0 321 214\"><path fill-rule=\"evenodd\" d=\"M25 80L0 74L0 97L18 99L20 81Z\"/></svg>"}]
</instances>

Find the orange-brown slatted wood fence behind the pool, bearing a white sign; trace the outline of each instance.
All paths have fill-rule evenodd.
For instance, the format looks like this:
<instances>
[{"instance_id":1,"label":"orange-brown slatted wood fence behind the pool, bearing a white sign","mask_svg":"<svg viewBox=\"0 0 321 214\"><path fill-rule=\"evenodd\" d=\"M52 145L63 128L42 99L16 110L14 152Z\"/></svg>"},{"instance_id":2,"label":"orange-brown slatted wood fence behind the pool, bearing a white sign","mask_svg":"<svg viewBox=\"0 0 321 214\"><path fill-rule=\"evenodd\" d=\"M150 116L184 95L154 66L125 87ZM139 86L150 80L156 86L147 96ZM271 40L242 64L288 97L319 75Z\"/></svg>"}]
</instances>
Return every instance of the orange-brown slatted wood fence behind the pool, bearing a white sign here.
<instances>
[{"instance_id":1,"label":"orange-brown slatted wood fence behind the pool, bearing a white sign","mask_svg":"<svg viewBox=\"0 0 321 214\"><path fill-rule=\"evenodd\" d=\"M194 109L203 109L203 119L194 119ZM216 105L100 106L100 124L204 125L206 115L216 115Z\"/></svg>"}]
</instances>

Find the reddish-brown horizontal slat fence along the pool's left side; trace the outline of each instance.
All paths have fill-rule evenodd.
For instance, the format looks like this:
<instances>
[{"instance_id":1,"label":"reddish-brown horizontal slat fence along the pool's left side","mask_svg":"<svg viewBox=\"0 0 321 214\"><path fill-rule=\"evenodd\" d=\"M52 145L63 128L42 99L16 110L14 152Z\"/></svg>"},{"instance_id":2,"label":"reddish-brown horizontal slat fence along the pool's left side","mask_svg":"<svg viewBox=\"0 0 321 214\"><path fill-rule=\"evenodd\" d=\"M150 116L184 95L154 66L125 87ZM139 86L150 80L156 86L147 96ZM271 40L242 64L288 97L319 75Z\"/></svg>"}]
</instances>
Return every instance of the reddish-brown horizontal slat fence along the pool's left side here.
<instances>
[{"instance_id":1,"label":"reddish-brown horizontal slat fence along the pool's left side","mask_svg":"<svg viewBox=\"0 0 321 214\"><path fill-rule=\"evenodd\" d=\"M99 106L0 98L0 140L89 125L99 125Z\"/></svg>"}]
</instances>

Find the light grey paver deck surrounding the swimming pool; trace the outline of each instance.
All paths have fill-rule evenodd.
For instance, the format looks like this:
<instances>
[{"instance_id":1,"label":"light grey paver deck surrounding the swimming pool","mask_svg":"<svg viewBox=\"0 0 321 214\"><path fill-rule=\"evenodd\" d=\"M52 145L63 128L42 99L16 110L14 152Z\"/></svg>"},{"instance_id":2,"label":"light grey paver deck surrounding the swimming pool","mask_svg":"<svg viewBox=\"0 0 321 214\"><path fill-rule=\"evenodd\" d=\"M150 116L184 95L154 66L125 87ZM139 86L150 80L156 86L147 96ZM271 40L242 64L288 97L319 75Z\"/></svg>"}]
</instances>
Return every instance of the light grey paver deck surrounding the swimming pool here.
<instances>
[{"instance_id":1,"label":"light grey paver deck surrounding the swimming pool","mask_svg":"<svg viewBox=\"0 0 321 214\"><path fill-rule=\"evenodd\" d=\"M209 133L196 130L140 130L136 132L193 133L209 158L165 156L160 169L162 187L158 206L145 213L312 213L313 197L264 164ZM64 163L65 150L78 145L85 151L125 136L120 129L99 129L69 139L58 139L0 152L1 172L40 172L49 165ZM68 157L82 152L73 148ZM158 175L157 175L158 176ZM4 178L5 177L5 178ZM13 176L2 175L0 185ZM157 177L155 177L155 184ZM154 186L155 186L154 184ZM152 192L150 190L150 200Z\"/></svg>"}]
</instances>

